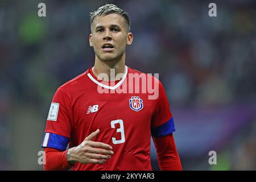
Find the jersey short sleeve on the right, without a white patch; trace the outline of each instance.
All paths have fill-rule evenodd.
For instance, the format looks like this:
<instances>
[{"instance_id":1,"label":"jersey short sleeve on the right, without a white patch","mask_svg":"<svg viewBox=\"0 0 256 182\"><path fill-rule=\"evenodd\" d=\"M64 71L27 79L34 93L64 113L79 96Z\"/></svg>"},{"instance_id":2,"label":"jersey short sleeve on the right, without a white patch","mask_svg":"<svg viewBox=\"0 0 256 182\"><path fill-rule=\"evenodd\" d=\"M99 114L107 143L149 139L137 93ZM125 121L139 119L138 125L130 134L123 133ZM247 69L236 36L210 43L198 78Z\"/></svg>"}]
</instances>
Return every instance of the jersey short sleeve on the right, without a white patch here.
<instances>
[{"instance_id":1,"label":"jersey short sleeve on the right, without a white patch","mask_svg":"<svg viewBox=\"0 0 256 182\"><path fill-rule=\"evenodd\" d=\"M170 105L163 85L159 82L159 96L151 123L152 137L164 137L175 131L174 119L170 111Z\"/></svg>"}]
</instances>

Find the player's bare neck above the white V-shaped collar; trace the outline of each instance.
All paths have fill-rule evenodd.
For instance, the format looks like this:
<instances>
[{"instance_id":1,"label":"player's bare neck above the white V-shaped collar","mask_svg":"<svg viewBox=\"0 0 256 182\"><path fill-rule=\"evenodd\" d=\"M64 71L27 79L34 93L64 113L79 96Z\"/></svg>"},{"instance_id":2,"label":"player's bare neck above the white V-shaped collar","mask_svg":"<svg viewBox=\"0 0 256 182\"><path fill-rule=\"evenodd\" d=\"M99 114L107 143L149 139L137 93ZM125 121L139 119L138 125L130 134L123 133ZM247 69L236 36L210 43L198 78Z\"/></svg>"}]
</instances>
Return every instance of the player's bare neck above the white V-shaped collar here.
<instances>
[{"instance_id":1,"label":"player's bare neck above the white V-shaped collar","mask_svg":"<svg viewBox=\"0 0 256 182\"><path fill-rule=\"evenodd\" d=\"M113 61L102 61L98 56L95 56L92 72L96 77L101 73L105 73L110 78L110 69L114 69L115 76L117 76L118 73L125 73L125 53L121 59Z\"/></svg>"}]
</instances>

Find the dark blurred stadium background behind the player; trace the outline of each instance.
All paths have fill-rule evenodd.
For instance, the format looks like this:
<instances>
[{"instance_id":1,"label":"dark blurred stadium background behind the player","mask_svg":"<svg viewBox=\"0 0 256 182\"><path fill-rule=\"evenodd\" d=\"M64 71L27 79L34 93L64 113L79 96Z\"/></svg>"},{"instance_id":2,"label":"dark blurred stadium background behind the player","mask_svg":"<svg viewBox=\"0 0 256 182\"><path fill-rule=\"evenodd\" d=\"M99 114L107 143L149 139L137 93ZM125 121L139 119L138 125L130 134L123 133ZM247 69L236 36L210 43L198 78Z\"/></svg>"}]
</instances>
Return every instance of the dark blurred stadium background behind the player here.
<instances>
[{"instance_id":1,"label":"dark blurred stadium background behind the player","mask_svg":"<svg viewBox=\"0 0 256 182\"><path fill-rule=\"evenodd\" d=\"M46 3L45 18L38 3ZM55 90L93 65L89 12L131 16L126 63L159 73L185 170L256 169L256 3L0 0L0 169L42 170L38 152ZM210 2L217 17L208 16ZM208 152L217 152L209 165ZM158 170L154 145L152 166Z\"/></svg>"}]
</instances>

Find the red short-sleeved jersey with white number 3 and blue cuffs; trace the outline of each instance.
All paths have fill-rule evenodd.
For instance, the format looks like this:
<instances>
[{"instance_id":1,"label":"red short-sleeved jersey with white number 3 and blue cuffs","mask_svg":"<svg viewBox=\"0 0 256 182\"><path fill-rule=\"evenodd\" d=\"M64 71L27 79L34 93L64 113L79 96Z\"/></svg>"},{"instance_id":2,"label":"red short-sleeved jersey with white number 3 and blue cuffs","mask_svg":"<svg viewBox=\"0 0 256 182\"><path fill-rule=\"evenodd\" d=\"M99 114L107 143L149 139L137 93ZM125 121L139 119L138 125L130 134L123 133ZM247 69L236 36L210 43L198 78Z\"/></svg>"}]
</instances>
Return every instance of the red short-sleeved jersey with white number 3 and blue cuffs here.
<instances>
[{"instance_id":1,"label":"red short-sleeved jersey with white number 3 and blue cuffs","mask_svg":"<svg viewBox=\"0 0 256 182\"><path fill-rule=\"evenodd\" d=\"M65 151L68 144L70 148L78 146L90 133L100 129L93 140L109 144L114 152L104 164L75 163L72 170L152 170L151 135L163 137L175 131L160 81L125 68L125 74L113 86L97 80L89 68L57 89L42 147ZM135 81L134 76L141 79ZM144 92L145 85L154 86L158 97L152 99L148 89Z\"/></svg>"}]
</instances>

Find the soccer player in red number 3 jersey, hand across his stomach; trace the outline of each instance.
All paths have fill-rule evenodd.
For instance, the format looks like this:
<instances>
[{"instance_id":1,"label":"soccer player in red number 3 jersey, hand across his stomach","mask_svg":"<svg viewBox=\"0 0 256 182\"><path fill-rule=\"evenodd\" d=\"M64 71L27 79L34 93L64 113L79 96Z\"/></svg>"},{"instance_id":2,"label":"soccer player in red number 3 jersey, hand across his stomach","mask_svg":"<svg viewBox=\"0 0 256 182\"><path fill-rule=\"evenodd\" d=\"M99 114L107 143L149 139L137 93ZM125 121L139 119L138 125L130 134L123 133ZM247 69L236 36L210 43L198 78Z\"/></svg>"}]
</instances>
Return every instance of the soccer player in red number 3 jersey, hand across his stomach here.
<instances>
[{"instance_id":1,"label":"soccer player in red number 3 jersey, hand across his stomach","mask_svg":"<svg viewBox=\"0 0 256 182\"><path fill-rule=\"evenodd\" d=\"M94 67L53 96L42 142L44 169L152 170L152 136L160 169L181 170L163 85L125 65L126 46L133 42L128 14L105 5L90 14L90 23ZM143 92L150 83L155 97Z\"/></svg>"}]
</instances>

